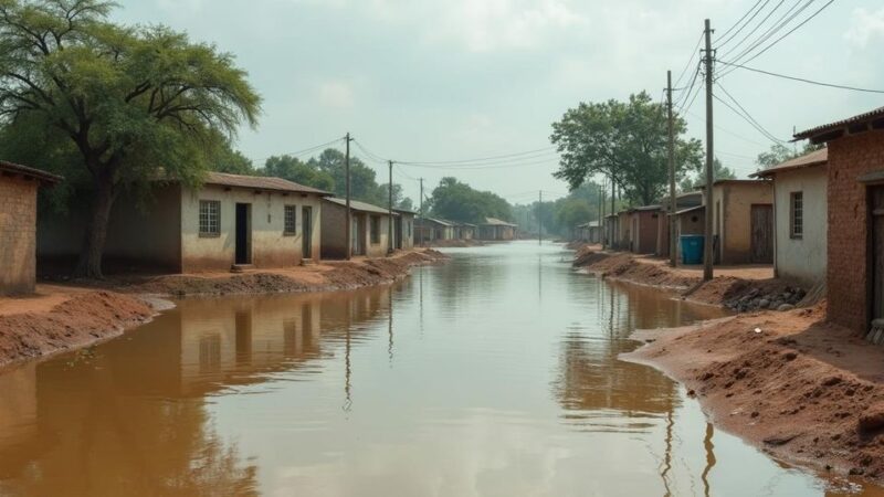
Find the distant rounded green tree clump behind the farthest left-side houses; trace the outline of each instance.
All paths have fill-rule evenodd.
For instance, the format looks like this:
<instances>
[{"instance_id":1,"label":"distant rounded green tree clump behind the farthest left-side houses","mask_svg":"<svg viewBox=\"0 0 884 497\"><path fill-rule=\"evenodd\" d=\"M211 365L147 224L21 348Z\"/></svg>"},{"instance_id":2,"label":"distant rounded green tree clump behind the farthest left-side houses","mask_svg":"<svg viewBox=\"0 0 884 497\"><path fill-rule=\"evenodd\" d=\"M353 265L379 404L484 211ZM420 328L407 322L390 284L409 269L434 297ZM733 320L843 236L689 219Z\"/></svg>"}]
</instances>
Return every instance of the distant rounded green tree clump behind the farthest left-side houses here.
<instances>
[{"instance_id":1,"label":"distant rounded green tree clump behind the farthest left-side houses","mask_svg":"<svg viewBox=\"0 0 884 497\"><path fill-rule=\"evenodd\" d=\"M485 218L513 219L506 200L490 191L474 190L452 177L442 178L433 190L430 205L433 216L452 221L481 223Z\"/></svg>"}]
</instances>

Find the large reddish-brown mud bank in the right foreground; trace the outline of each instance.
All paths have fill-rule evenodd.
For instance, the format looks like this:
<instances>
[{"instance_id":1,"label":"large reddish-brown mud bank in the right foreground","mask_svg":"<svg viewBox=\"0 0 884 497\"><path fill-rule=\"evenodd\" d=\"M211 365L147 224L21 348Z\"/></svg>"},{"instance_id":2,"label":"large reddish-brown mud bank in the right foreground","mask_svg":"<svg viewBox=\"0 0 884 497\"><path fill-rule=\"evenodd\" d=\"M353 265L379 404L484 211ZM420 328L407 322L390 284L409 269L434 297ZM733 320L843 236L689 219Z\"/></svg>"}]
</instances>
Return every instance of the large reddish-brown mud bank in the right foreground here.
<instances>
[{"instance_id":1,"label":"large reddish-brown mud bank in the right foreground","mask_svg":"<svg viewBox=\"0 0 884 497\"><path fill-rule=\"evenodd\" d=\"M775 457L884 482L884 349L823 306L636 331L622 356L696 395L716 425Z\"/></svg>"}]
</instances>

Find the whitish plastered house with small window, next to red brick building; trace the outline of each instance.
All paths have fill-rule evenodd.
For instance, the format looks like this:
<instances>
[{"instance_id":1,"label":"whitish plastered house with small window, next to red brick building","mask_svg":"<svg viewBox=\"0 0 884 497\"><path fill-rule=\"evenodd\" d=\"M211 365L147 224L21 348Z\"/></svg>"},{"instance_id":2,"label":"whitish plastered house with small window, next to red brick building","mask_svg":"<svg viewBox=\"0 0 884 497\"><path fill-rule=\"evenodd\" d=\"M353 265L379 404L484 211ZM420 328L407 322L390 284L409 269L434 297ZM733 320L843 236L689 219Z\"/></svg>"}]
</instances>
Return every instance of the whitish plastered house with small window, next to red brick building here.
<instances>
[{"instance_id":1,"label":"whitish plastered house with small window, next to red brick building","mask_svg":"<svg viewBox=\"0 0 884 497\"><path fill-rule=\"evenodd\" d=\"M775 274L807 287L825 281L828 156L823 148L754 175L774 182Z\"/></svg>"}]
</instances>

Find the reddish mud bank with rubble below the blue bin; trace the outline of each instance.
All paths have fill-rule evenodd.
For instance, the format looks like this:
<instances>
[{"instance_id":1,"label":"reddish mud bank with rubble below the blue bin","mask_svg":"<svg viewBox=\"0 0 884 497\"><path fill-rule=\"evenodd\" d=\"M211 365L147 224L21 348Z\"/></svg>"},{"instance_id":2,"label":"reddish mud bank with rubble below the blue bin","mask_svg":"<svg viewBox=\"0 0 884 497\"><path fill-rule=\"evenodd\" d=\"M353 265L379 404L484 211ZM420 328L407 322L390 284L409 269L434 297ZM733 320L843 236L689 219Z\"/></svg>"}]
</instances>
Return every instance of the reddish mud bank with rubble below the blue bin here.
<instances>
[{"instance_id":1,"label":"reddish mud bank with rubble below the blue bin","mask_svg":"<svg viewBox=\"0 0 884 497\"><path fill-rule=\"evenodd\" d=\"M762 272L757 267L719 271L725 275L703 282L702 274L696 269L672 268L660 260L622 252L601 252L596 246L587 245L580 246L575 253L573 266L604 278L662 288L685 300L723 306L738 313L791 310L799 304L814 303L804 299L807 289L791 282L759 278Z\"/></svg>"}]
</instances>

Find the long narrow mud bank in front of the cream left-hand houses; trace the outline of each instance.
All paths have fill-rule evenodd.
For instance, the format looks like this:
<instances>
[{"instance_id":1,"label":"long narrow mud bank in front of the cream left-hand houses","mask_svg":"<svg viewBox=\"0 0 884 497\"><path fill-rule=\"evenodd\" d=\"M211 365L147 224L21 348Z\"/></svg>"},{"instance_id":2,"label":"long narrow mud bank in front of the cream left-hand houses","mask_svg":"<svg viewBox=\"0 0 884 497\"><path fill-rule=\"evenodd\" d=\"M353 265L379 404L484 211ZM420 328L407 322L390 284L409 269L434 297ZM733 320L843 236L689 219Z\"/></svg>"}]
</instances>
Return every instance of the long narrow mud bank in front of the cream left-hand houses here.
<instances>
[{"instance_id":1,"label":"long narrow mud bank in front of the cream left-hand houses","mask_svg":"<svg viewBox=\"0 0 884 497\"><path fill-rule=\"evenodd\" d=\"M427 248L392 257L323 262L285 269L255 269L241 274L164 275L117 281L114 289L173 297L335 292L390 284L408 276L414 266L438 264L448 258L441 252Z\"/></svg>"}]
</instances>

